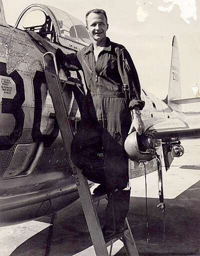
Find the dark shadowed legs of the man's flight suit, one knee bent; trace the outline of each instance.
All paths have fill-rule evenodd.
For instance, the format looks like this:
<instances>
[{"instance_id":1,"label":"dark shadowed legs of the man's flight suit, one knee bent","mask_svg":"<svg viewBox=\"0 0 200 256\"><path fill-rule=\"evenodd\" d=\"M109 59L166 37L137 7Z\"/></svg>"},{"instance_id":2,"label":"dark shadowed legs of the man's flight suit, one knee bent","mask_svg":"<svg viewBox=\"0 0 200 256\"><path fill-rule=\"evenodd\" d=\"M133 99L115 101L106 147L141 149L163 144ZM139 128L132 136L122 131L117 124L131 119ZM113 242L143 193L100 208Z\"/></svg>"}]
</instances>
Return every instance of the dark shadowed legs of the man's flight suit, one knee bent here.
<instances>
[{"instance_id":1,"label":"dark shadowed legs of the man's flight suit, one knee bent","mask_svg":"<svg viewBox=\"0 0 200 256\"><path fill-rule=\"evenodd\" d=\"M87 119L80 121L71 143L73 163L87 179L105 187L108 198L105 228L109 230L123 227L129 209L130 190L123 190L128 182L128 158L119 140L119 133L109 134Z\"/></svg>"}]
</instances>

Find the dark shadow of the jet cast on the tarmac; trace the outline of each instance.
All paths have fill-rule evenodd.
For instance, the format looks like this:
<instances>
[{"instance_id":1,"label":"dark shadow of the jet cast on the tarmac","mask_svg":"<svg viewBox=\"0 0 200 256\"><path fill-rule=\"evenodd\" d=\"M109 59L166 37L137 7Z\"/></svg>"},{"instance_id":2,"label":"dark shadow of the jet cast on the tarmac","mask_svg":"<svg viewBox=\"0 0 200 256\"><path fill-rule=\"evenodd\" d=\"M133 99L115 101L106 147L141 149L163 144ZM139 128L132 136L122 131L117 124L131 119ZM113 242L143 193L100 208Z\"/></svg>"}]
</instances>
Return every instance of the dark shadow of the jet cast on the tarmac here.
<instances>
[{"instance_id":1,"label":"dark shadow of the jet cast on the tarmac","mask_svg":"<svg viewBox=\"0 0 200 256\"><path fill-rule=\"evenodd\" d=\"M147 242L145 198L130 198L128 221L139 255L200 255L199 189L200 181L175 199L164 201L166 205L165 241L163 241L164 214L156 207L159 200L147 199L150 237ZM106 200L103 199L98 210L102 224L105 206ZM43 217L40 221L49 222L50 217ZM34 235L11 255L72 256L92 245L79 199L56 213L50 235L50 252L46 254L49 230L50 228L46 228ZM117 253L117 256L122 255L126 255L124 248Z\"/></svg>"}]
</instances>

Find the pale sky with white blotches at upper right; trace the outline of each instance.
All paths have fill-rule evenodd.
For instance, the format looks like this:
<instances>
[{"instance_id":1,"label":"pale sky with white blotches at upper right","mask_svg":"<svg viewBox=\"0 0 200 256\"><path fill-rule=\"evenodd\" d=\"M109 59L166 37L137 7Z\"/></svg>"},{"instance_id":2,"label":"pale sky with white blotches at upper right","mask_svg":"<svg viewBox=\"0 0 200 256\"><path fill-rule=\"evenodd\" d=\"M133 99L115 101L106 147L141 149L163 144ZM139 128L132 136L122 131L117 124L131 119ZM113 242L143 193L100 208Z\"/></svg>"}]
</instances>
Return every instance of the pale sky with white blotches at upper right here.
<instances>
[{"instance_id":1,"label":"pale sky with white blotches at upper right","mask_svg":"<svg viewBox=\"0 0 200 256\"><path fill-rule=\"evenodd\" d=\"M171 44L175 35L180 58L181 97L194 97L200 88L200 0L2 0L6 21L14 26L31 4L60 9L85 23L85 13L105 10L111 41L122 44L135 64L141 87L160 99L168 90ZM183 105L199 111L200 103Z\"/></svg>"}]
</instances>

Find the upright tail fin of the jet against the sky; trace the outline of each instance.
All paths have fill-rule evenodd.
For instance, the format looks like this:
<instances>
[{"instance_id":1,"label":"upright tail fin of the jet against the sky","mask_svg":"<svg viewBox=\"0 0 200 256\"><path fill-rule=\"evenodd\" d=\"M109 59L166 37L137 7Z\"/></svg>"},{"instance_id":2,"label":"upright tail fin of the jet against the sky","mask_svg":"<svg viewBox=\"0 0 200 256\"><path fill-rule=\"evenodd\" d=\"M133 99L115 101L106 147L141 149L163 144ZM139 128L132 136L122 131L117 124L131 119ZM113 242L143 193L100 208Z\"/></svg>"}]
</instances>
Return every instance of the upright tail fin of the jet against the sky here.
<instances>
[{"instance_id":1,"label":"upright tail fin of the jet against the sky","mask_svg":"<svg viewBox=\"0 0 200 256\"><path fill-rule=\"evenodd\" d=\"M180 64L179 64L178 43L177 43L176 37L174 36L172 40L169 87L168 87L168 93L164 102L167 103L167 105L171 109L181 112L180 104L173 101L173 99L179 99L179 98L181 98Z\"/></svg>"}]
</instances>

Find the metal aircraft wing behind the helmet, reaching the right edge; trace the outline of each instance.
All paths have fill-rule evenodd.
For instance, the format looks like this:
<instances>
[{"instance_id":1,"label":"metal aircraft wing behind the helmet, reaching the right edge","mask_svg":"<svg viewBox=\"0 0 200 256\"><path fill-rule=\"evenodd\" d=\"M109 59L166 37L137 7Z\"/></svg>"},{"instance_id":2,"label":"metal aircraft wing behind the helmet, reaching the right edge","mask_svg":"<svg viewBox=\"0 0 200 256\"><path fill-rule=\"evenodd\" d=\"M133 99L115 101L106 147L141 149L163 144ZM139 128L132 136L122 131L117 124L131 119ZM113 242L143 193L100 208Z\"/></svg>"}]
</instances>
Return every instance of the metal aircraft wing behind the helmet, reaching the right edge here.
<instances>
[{"instance_id":1,"label":"metal aircraft wing behind the helmet, reaching the right edge","mask_svg":"<svg viewBox=\"0 0 200 256\"><path fill-rule=\"evenodd\" d=\"M147 131L163 142L200 138L200 115L148 120L144 124Z\"/></svg>"}]
</instances>

